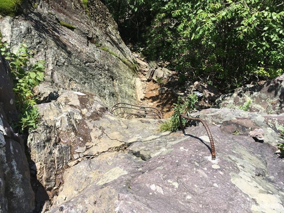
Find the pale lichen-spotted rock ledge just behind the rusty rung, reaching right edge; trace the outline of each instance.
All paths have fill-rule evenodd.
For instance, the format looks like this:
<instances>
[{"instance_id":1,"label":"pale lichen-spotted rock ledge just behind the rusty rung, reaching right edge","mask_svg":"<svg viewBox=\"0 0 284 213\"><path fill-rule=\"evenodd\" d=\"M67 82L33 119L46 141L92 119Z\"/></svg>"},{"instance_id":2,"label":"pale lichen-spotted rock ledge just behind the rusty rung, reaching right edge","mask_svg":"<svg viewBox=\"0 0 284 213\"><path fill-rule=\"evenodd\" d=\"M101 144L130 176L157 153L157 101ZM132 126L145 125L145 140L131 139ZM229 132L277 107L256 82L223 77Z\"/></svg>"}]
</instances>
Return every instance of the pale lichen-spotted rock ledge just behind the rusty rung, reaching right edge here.
<instances>
[{"instance_id":1,"label":"pale lichen-spotted rock ledge just behind the rusty rung, reaching right edge","mask_svg":"<svg viewBox=\"0 0 284 213\"><path fill-rule=\"evenodd\" d=\"M284 129L283 114L266 114L230 108L209 108L193 113L192 116L205 119L210 124L219 125L222 131L230 134L248 135L250 131L262 128L264 131L262 142L276 145L284 141L279 134Z\"/></svg>"}]
</instances>

